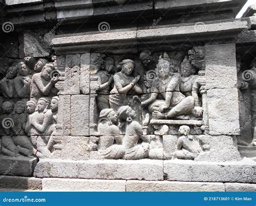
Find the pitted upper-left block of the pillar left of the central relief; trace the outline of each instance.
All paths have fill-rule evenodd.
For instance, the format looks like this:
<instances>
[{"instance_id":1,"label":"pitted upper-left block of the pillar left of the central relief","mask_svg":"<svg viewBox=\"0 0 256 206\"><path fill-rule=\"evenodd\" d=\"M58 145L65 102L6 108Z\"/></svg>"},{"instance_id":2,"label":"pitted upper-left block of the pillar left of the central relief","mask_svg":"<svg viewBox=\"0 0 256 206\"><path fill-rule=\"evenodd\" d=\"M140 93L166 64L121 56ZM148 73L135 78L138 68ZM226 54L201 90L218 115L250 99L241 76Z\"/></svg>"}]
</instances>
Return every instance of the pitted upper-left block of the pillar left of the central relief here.
<instances>
[{"instance_id":1,"label":"pitted upper-left block of the pillar left of the central relief","mask_svg":"<svg viewBox=\"0 0 256 206\"><path fill-rule=\"evenodd\" d=\"M66 55L65 94L80 94L80 54Z\"/></svg>"}]
</instances>

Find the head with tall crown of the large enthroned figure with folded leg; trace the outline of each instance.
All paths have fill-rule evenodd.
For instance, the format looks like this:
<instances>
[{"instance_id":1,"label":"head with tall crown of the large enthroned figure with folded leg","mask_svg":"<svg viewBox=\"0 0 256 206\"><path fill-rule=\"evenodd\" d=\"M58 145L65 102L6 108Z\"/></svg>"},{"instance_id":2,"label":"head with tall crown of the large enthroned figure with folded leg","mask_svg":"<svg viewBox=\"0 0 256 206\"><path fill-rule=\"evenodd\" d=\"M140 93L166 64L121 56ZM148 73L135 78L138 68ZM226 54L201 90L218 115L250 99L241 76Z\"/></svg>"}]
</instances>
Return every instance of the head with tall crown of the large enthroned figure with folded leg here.
<instances>
[{"instance_id":1,"label":"head with tall crown of the large enthroned figure with folded leg","mask_svg":"<svg viewBox=\"0 0 256 206\"><path fill-rule=\"evenodd\" d=\"M167 53L164 54L164 57L159 57L158 63L157 63L157 75L162 78L168 78L170 72L173 72L171 60L169 59L169 56Z\"/></svg>"}]
</instances>

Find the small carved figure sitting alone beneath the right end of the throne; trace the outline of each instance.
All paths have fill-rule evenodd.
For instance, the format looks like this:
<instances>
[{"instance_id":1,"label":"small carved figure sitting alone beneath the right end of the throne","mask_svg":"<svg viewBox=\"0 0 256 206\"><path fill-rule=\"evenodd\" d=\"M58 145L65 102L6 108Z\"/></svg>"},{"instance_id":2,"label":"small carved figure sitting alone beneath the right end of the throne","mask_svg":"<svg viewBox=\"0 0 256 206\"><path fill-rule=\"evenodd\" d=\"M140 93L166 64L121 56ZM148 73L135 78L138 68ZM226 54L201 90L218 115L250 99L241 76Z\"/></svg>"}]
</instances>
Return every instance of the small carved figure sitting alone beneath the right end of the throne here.
<instances>
[{"instance_id":1,"label":"small carved figure sitting alone beneath the right end of the throne","mask_svg":"<svg viewBox=\"0 0 256 206\"><path fill-rule=\"evenodd\" d=\"M177 151L173 153L173 156L178 159L194 160L203 151L199 141L189 135L190 127L186 125L180 126L179 134L182 136L178 139Z\"/></svg>"}]
</instances>

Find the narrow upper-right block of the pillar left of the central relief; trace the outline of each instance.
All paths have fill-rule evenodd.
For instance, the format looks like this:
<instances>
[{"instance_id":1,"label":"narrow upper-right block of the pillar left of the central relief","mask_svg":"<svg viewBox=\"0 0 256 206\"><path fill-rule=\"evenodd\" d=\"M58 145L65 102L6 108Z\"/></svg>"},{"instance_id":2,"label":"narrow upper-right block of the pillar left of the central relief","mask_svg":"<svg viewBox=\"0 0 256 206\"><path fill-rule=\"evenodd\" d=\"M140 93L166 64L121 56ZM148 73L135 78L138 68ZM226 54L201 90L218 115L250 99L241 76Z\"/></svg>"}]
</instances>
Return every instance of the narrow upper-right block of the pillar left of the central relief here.
<instances>
[{"instance_id":1,"label":"narrow upper-right block of the pillar left of the central relief","mask_svg":"<svg viewBox=\"0 0 256 206\"><path fill-rule=\"evenodd\" d=\"M80 92L82 94L89 94L90 92L90 53L81 55L80 60Z\"/></svg>"}]
</instances>

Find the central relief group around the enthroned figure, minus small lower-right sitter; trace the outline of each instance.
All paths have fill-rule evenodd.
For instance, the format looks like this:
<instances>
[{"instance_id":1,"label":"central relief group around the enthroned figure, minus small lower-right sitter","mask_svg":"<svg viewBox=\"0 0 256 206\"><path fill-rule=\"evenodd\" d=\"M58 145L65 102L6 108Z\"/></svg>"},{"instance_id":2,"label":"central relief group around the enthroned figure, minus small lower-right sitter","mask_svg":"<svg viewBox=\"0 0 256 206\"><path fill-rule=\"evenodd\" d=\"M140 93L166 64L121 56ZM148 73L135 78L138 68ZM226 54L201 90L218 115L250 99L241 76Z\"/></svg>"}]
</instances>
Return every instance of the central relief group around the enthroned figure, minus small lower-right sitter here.
<instances>
[{"instance_id":1,"label":"central relief group around the enthroned figure, minus small lower-right sitter","mask_svg":"<svg viewBox=\"0 0 256 206\"><path fill-rule=\"evenodd\" d=\"M180 63L180 68L174 68L166 52L156 60L156 54L148 50L142 51L139 60L144 73L137 76L134 75L134 70L138 65L132 59L115 63L113 58L108 57L110 63L107 65L111 65L111 70L106 70L105 54L92 54L91 63L96 68L93 75L98 80L97 149L103 159L163 159L162 136L177 129L178 125L175 125L175 121L173 126L165 125L161 120L196 120L198 125L191 127L200 125L205 106L201 92L205 86L204 52L198 47L187 54ZM119 67L121 71L113 73L117 71L114 67ZM144 85L140 85L140 77L143 77ZM94 83L91 86L93 85ZM104 104L100 97L102 88L105 94ZM143 100L140 100L140 95L143 95ZM136 97L139 104L134 108L133 100ZM160 125L158 123L152 126L152 119L159 120Z\"/></svg>"}]
</instances>

